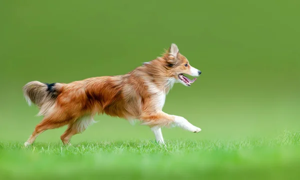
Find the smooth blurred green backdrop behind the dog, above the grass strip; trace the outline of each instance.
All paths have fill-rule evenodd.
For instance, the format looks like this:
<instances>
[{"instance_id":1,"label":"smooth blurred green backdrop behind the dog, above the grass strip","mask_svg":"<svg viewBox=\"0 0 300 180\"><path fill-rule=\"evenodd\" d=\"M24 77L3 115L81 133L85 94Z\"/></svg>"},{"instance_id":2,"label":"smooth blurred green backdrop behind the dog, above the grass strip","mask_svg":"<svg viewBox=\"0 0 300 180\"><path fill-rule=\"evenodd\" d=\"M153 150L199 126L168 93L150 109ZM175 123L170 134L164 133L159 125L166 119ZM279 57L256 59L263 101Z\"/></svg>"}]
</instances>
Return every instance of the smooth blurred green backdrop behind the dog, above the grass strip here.
<instances>
[{"instance_id":1,"label":"smooth blurred green backdrop behind the dog, above the grass strip","mask_svg":"<svg viewBox=\"0 0 300 180\"><path fill-rule=\"evenodd\" d=\"M0 2L0 141L25 141L42 117L22 86L125 74L176 43L202 71L175 84L163 110L199 134L167 139L240 139L300 130L300 1L4 0ZM72 142L153 139L147 127L96 116ZM37 142L60 142L64 128Z\"/></svg>"}]
</instances>

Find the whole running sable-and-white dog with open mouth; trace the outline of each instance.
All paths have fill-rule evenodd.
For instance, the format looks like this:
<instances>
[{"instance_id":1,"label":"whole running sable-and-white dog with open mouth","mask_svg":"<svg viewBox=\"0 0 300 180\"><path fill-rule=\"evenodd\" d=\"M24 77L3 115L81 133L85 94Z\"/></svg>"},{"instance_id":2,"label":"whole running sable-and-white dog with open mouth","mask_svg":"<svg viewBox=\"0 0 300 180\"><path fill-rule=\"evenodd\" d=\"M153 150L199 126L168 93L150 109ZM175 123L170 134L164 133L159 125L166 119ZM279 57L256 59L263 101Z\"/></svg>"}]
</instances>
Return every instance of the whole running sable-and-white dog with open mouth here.
<instances>
[{"instance_id":1,"label":"whole running sable-and-white dog with open mouth","mask_svg":"<svg viewBox=\"0 0 300 180\"><path fill-rule=\"evenodd\" d=\"M94 122L96 113L129 122L137 120L151 128L159 144L164 144L161 127L178 126L198 133L201 129L183 117L162 111L165 96L174 83L190 86L196 79L190 80L183 74L199 76L201 71L190 66L178 47L171 44L161 57L125 75L92 77L69 84L29 82L23 87L24 97L29 106L38 106L37 115L44 118L24 145L31 145L42 132L64 125L67 129L60 139L67 144L73 135Z\"/></svg>"}]
</instances>

